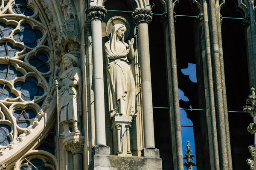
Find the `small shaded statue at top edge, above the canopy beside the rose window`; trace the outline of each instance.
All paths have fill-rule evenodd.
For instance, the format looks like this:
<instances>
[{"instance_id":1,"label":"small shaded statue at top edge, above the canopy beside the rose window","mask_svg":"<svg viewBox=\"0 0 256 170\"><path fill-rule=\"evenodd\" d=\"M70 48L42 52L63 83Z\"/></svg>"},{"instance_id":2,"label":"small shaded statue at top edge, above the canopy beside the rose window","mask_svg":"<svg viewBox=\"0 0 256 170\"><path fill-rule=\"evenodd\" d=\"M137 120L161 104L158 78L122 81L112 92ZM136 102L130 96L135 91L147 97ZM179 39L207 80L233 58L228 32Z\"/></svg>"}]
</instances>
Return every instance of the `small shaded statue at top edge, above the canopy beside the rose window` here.
<instances>
[{"instance_id":1,"label":"small shaded statue at top edge, above the canopy beside the rose window","mask_svg":"<svg viewBox=\"0 0 256 170\"><path fill-rule=\"evenodd\" d=\"M71 19L71 14L73 15L73 19L76 20L76 10L71 0L61 0L60 5L62 6L65 20Z\"/></svg>"}]
</instances>

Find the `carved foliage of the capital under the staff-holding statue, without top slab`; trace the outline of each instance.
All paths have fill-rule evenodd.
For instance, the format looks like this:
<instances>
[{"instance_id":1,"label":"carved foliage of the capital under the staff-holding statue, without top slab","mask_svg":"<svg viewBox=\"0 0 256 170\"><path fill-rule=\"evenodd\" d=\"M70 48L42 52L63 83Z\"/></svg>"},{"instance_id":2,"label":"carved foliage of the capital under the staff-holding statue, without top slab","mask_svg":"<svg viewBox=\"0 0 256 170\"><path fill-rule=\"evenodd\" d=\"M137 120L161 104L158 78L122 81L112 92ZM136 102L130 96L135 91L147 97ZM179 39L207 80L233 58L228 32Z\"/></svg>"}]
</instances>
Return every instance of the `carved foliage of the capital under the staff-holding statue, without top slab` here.
<instances>
[{"instance_id":1,"label":"carved foliage of the capital under the staff-holding statue, without top slab","mask_svg":"<svg viewBox=\"0 0 256 170\"><path fill-rule=\"evenodd\" d=\"M63 148L67 151L71 151L72 154L83 154L84 142L79 139L74 139L63 144Z\"/></svg>"}]
</instances>

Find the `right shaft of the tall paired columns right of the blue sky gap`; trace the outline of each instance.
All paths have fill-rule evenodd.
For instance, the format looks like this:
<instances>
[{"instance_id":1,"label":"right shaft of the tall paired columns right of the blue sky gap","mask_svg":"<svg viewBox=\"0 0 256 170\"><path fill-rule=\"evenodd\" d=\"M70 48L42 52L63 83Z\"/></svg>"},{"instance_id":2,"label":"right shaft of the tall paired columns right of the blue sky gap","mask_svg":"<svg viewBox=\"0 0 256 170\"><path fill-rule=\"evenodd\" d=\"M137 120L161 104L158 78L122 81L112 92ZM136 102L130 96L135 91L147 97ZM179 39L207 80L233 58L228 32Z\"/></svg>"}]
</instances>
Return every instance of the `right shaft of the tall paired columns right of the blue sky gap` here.
<instances>
[{"instance_id":1,"label":"right shaft of the tall paired columns right of the blue sky gap","mask_svg":"<svg viewBox=\"0 0 256 170\"><path fill-rule=\"evenodd\" d=\"M218 124L218 132L219 132L219 156L221 157L221 169L224 170L231 170L229 162L229 153L227 147L227 136L226 136L226 125L225 123L225 112L224 101L223 98L223 86L222 86L222 79L221 76L221 58L220 58L220 50L219 50L219 37L218 37L218 29L217 29L217 20L219 20L219 15L216 14L216 2L215 0L209 1L211 22L210 31L211 31L211 46L212 46L212 64L213 64L213 77L215 82L215 108L217 109L217 124ZM217 19L218 18L218 19Z\"/></svg>"}]
</instances>

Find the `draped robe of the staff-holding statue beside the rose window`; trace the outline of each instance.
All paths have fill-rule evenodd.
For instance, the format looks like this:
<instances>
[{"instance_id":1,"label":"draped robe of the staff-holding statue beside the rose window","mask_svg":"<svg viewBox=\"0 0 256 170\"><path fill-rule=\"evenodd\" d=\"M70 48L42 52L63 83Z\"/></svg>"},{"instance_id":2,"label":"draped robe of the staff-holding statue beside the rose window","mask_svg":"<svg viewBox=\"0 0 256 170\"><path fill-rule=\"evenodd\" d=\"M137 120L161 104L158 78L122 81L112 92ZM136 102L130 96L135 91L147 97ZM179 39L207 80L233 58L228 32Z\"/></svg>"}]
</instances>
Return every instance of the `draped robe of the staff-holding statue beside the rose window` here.
<instances>
[{"instance_id":1,"label":"draped robe of the staff-holding statue beside the rose window","mask_svg":"<svg viewBox=\"0 0 256 170\"><path fill-rule=\"evenodd\" d=\"M79 114L81 114L81 71L77 67L63 71L60 77L62 88L70 82L76 80L78 85L73 85L68 90L61 89L59 91L59 108L61 124L63 122L79 122Z\"/></svg>"}]
</instances>

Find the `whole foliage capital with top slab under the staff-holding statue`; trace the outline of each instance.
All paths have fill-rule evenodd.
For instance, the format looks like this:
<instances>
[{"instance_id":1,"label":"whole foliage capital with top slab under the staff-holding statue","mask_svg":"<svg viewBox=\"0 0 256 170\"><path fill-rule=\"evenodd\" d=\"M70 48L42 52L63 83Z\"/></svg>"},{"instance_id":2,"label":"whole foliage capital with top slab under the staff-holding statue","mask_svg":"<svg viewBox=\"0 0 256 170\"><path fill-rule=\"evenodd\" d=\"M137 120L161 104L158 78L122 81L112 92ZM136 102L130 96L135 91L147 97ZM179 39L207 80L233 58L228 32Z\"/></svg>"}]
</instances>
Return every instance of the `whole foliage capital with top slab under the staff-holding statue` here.
<instances>
[{"instance_id":1,"label":"whole foliage capital with top slab under the staff-holding statue","mask_svg":"<svg viewBox=\"0 0 256 170\"><path fill-rule=\"evenodd\" d=\"M72 155L83 154L84 136L70 136L63 141L63 149L72 152Z\"/></svg>"}]
</instances>

